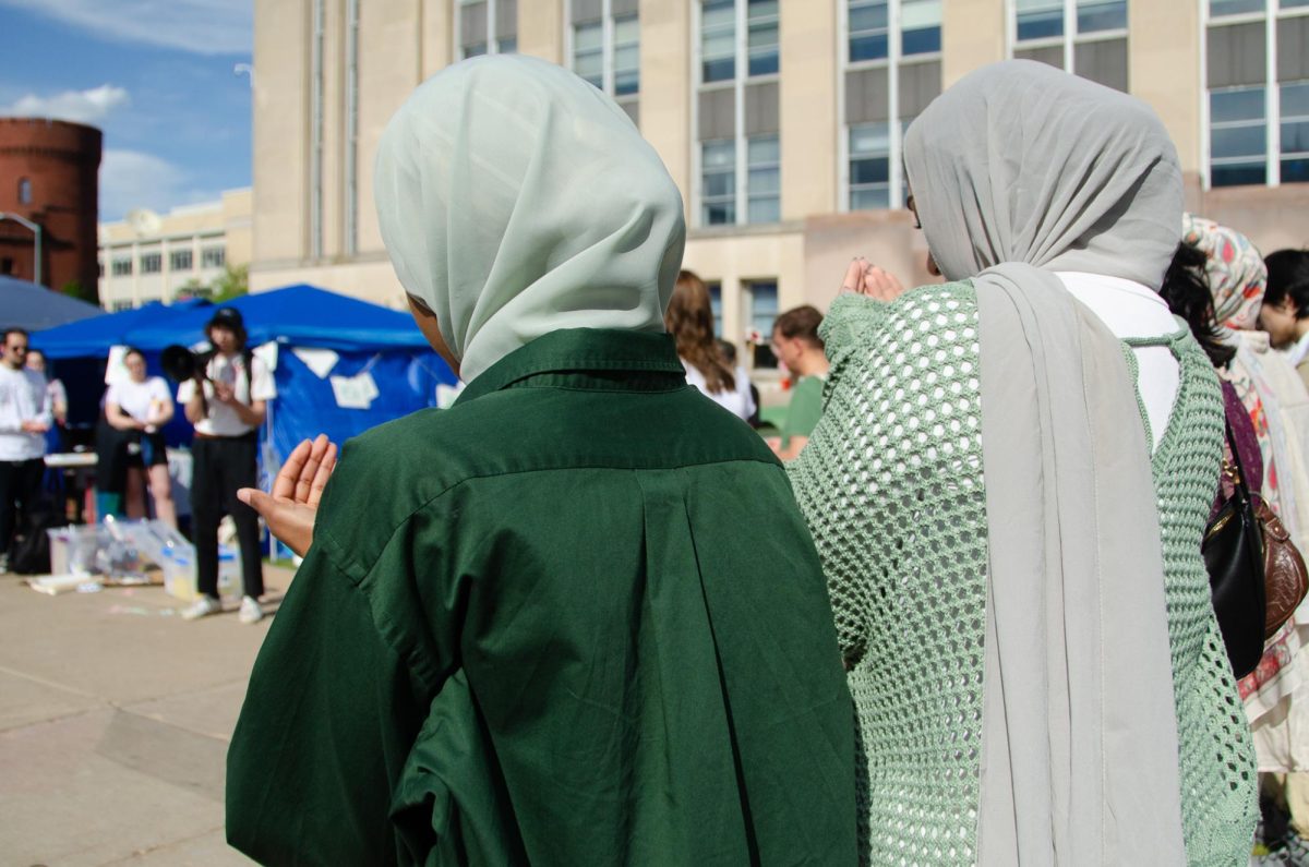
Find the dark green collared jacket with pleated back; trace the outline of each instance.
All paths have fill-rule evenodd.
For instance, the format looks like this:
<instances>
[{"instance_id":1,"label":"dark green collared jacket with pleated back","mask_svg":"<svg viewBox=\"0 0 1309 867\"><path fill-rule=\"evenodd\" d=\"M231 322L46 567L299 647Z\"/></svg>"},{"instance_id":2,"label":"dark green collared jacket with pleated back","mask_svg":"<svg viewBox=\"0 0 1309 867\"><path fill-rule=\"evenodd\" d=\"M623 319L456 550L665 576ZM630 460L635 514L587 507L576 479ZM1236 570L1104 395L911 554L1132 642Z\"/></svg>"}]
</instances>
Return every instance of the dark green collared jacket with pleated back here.
<instances>
[{"instance_id":1,"label":"dark green collared jacket with pleated back","mask_svg":"<svg viewBox=\"0 0 1309 867\"><path fill-rule=\"evenodd\" d=\"M351 440L254 668L270 863L852 864L850 694L781 466L662 334L548 334Z\"/></svg>"}]
</instances>

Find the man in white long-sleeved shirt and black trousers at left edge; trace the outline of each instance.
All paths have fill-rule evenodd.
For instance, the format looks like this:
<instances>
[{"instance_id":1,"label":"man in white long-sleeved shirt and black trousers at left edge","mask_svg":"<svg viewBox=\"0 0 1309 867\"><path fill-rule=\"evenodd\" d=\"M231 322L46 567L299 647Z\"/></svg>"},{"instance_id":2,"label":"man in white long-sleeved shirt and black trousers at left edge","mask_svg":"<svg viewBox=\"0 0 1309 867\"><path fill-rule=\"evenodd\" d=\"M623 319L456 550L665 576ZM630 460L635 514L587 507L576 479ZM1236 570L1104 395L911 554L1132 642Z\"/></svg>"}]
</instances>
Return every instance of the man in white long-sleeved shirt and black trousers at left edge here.
<instances>
[{"instance_id":1,"label":"man in white long-sleeved shirt and black trousers at left edge","mask_svg":"<svg viewBox=\"0 0 1309 867\"><path fill-rule=\"evenodd\" d=\"M7 330L0 355L0 572L8 570L14 526L41 495L52 422L46 378L24 365L26 355L27 333Z\"/></svg>"}]
</instances>

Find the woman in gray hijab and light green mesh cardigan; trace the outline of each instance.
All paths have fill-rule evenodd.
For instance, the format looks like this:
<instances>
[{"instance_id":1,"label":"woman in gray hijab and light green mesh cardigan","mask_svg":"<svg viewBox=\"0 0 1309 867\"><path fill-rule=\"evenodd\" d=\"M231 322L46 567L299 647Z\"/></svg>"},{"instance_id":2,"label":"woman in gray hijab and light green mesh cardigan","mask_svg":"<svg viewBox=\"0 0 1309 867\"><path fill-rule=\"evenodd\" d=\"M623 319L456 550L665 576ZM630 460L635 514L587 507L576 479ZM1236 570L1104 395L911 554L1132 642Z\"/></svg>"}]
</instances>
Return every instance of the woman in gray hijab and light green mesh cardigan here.
<instances>
[{"instance_id":1,"label":"woman in gray hijab and light green mesh cardigan","mask_svg":"<svg viewBox=\"0 0 1309 867\"><path fill-rule=\"evenodd\" d=\"M833 304L791 465L864 859L1244 863L1254 758L1200 559L1223 405L1155 295L1173 144L1138 100L1008 62L914 122L906 170L949 282Z\"/></svg>"}]
</instances>

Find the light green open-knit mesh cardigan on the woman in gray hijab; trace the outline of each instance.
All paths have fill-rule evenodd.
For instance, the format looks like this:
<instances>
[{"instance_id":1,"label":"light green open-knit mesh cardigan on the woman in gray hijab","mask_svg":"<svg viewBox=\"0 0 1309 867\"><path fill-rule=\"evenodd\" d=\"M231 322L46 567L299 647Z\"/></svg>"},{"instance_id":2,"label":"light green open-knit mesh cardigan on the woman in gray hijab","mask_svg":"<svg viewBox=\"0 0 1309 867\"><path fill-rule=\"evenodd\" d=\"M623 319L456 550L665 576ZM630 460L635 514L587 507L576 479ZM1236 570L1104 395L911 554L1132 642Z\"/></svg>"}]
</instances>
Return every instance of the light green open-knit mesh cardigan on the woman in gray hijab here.
<instances>
[{"instance_id":1,"label":"light green open-knit mesh cardigan on the woman in gray hijab","mask_svg":"<svg viewBox=\"0 0 1309 867\"><path fill-rule=\"evenodd\" d=\"M970 282L890 304L842 296L822 337L823 416L788 469L852 664L861 860L974 863L988 563L977 296ZM1221 399L1195 342L1174 352L1182 389L1153 469L1183 833L1190 863L1230 864L1249 853L1254 758L1199 557Z\"/></svg>"}]
</instances>

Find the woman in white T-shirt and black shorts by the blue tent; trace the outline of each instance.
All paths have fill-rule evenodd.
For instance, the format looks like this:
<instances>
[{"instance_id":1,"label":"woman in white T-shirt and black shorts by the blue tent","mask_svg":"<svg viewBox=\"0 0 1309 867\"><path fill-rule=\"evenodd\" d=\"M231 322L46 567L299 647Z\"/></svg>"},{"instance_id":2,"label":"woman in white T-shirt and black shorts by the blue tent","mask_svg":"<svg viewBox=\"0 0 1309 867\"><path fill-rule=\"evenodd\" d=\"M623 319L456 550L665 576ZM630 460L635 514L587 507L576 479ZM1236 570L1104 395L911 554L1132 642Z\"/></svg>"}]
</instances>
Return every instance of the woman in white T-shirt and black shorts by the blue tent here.
<instances>
[{"instance_id":1,"label":"woman in white T-shirt and black shorts by the blue tent","mask_svg":"<svg viewBox=\"0 0 1309 867\"><path fill-rule=\"evenodd\" d=\"M105 419L134 435L127 457L127 516L145 517L145 487L154 499L154 516L177 526L173 481L168 474L164 426L173 418L173 393L161 376L145 376L145 355L137 348L123 354L126 378L117 378L105 393ZM132 445L139 449L131 448Z\"/></svg>"}]
</instances>

